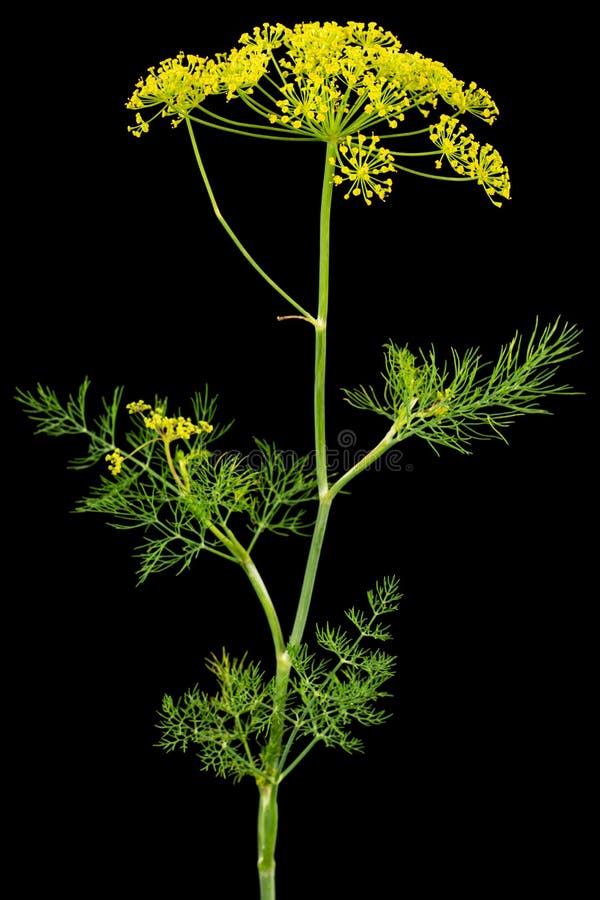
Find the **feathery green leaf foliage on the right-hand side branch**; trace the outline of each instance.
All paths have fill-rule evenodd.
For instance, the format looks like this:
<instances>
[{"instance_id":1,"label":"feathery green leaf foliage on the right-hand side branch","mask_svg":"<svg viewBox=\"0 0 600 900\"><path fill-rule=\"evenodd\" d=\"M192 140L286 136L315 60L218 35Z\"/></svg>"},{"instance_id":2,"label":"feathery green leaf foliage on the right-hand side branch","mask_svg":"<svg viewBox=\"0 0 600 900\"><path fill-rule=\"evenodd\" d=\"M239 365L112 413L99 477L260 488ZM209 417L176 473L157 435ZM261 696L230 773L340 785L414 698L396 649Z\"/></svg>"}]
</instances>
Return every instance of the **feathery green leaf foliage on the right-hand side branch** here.
<instances>
[{"instance_id":1,"label":"feathery green leaf foliage on the right-hand side branch","mask_svg":"<svg viewBox=\"0 0 600 900\"><path fill-rule=\"evenodd\" d=\"M541 331L536 323L527 342L515 334L493 363L482 362L474 348L462 354L453 349L451 361L439 363L434 348L417 356L390 342L383 390L360 385L344 393L351 406L393 423L381 452L415 435L436 451L446 446L469 453L473 440L504 439L504 429L517 417L547 413L544 398L576 393L553 379L559 365L580 352L580 334L560 319Z\"/></svg>"}]
</instances>

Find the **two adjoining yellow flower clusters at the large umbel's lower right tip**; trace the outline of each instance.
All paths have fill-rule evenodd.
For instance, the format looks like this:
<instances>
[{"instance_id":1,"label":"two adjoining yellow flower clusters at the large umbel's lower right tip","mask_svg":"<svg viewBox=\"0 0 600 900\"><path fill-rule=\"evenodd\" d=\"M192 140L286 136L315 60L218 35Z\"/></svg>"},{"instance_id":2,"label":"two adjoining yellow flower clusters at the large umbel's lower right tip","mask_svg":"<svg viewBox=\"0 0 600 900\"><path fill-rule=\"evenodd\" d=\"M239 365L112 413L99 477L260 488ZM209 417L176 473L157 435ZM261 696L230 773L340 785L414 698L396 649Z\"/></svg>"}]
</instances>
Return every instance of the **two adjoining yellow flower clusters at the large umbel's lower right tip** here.
<instances>
[{"instance_id":1,"label":"two adjoining yellow flower clusters at the large umbel's lower right tip","mask_svg":"<svg viewBox=\"0 0 600 900\"><path fill-rule=\"evenodd\" d=\"M429 137L459 175L473 178L483 185L488 197L495 206L502 201L494 196L510 198L510 177L502 157L490 144L480 144L472 134L467 133L464 125L450 116L442 116L436 125L432 125ZM439 168L442 160L436 162Z\"/></svg>"}]
</instances>

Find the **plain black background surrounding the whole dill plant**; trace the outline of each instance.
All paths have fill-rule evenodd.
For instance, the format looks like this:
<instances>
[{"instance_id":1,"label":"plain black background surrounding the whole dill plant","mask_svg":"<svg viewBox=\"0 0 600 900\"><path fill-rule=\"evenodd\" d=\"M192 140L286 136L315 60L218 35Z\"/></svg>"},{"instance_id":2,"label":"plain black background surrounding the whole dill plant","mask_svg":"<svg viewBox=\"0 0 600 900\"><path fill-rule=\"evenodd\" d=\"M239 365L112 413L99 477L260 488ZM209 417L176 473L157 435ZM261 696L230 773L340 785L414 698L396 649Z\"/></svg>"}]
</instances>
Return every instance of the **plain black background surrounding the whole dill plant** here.
<instances>
[{"instance_id":1,"label":"plain black background surrounding the whole dill plant","mask_svg":"<svg viewBox=\"0 0 600 900\"><path fill-rule=\"evenodd\" d=\"M339 388L375 378L390 338L493 354L536 316L561 315L589 346L591 241L567 136L580 110L565 74L585 22L525 24L510 7L502 22L490 12L475 23L446 7L297 8L58 8L14 34L5 741L13 835L32 860L25 884L41 878L64 896L257 896L254 786L218 782L153 742L164 692L211 687L212 650L268 659L269 645L232 567L201 559L135 586L134 540L71 513L89 484L65 469L80 448L34 438L14 388L41 382L64 395L88 375L95 398L123 384L128 398L183 404L208 383L223 419L235 419L230 446L248 449L258 435L310 447L310 329L277 322L289 310L212 217L183 128L127 133L124 104L147 67L180 49L227 51L263 21L375 20L500 106L489 139L514 194L501 210L480 189L409 177L370 209L335 196L334 450L348 431L357 451L381 436L382 423L345 406ZM483 126L478 134L488 138ZM203 141L224 215L313 308L319 148ZM364 756L317 751L282 786L282 900L354 900L390 884L392 896L452 887L486 897L512 890L517 873L525 891L572 886L586 852L575 823L592 603L587 355L561 376L588 396L519 422L510 447L438 458L409 442L399 471L369 472L336 501L313 615L341 621L377 578L400 576L393 718L363 735ZM306 549L273 540L257 553L287 629Z\"/></svg>"}]
</instances>

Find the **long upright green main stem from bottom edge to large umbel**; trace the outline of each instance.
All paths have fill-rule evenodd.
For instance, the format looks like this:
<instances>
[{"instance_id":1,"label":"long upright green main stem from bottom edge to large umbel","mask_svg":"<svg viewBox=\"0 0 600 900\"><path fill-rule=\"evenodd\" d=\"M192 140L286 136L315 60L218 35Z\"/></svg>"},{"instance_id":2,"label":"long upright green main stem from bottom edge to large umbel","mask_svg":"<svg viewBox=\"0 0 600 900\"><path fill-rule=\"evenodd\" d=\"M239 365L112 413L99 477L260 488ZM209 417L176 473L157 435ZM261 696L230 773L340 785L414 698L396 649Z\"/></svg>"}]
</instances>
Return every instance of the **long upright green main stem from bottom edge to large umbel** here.
<instances>
[{"instance_id":1,"label":"long upright green main stem from bottom edge to large umbel","mask_svg":"<svg viewBox=\"0 0 600 900\"><path fill-rule=\"evenodd\" d=\"M327 355L327 311L329 305L329 247L331 198L333 191L333 166L330 157L335 156L335 145L328 143L325 153L325 170L321 193L319 225L319 308L315 326L315 378L314 378L314 433L317 487L319 507L310 550L306 562L296 618L290 643L301 643L313 596L317 568L323 548L327 519L333 495L327 476L327 438L325 429L325 362ZM275 900L275 845L277 841L278 811L277 792L279 760L283 738L283 713L289 684L290 660L287 653L278 658L275 702L269 740L268 769L273 780L258 785L258 877L260 900Z\"/></svg>"}]
</instances>

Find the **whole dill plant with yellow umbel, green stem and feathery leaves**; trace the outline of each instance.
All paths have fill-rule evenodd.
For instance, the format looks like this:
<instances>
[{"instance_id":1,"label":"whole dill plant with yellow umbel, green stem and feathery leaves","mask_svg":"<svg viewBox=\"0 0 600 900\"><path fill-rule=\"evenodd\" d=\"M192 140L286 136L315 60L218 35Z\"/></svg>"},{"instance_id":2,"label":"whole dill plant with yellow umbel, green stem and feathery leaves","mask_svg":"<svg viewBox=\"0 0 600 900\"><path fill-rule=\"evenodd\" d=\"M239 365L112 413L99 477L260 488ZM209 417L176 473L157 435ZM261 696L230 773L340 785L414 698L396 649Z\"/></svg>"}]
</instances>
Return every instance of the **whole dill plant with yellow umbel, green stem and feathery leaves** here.
<instances>
[{"instance_id":1,"label":"whole dill plant with yellow umbel, green stem and feathery leaves","mask_svg":"<svg viewBox=\"0 0 600 900\"><path fill-rule=\"evenodd\" d=\"M479 187L491 204L510 199L508 168L465 121L487 128L498 108L476 83L465 84L442 63L405 52L375 23L310 22L292 28L262 25L241 36L228 53L212 58L179 53L150 68L128 102L132 134L157 120L187 129L213 212L248 263L288 309L314 332L314 453L290 460L274 444L256 440L252 460L216 452L227 426L218 422L217 398L204 389L187 405L166 399L130 399L117 388L90 419L89 380L60 399L38 385L17 399L36 430L83 439L77 469L101 474L78 509L136 529L139 581L165 570L182 571L201 553L241 567L260 603L272 639L272 658L241 659L226 650L207 668L215 692L191 687L165 696L159 746L191 750L217 776L251 778L258 789L258 880L261 900L275 898L275 848L281 784L318 745L362 749L356 726L386 720L395 658L387 650L390 616L401 600L396 576L381 578L344 624L306 629L335 497L392 447L421 438L436 452L470 453L477 440L504 438L519 416L545 412L542 401L572 393L557 384L559 366L577 354L579 331L560 319L515 334L497 358L476 348L440 360L435 348L413 351L390 341L378 383L345 389L359 410L386 420L380 440L357 463L332 473L327 460L325 361L329 302L330 214L334 192L344 201L376 206L394 178L416 175ZM319 270L314 304L300 302L276 283L223 217L202 156L202 129L223 138L320 143L323 178L318 225ZM373 214L376 214L374 211ZM258 460L258 462L257 462ZM264 534L309 535L304 577L293 627L284 634L277 598L254 551ZM315 649L316 648L316 649Z\"/></svg>"}]
</instances>

